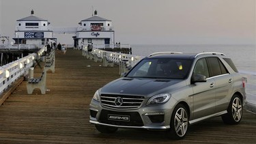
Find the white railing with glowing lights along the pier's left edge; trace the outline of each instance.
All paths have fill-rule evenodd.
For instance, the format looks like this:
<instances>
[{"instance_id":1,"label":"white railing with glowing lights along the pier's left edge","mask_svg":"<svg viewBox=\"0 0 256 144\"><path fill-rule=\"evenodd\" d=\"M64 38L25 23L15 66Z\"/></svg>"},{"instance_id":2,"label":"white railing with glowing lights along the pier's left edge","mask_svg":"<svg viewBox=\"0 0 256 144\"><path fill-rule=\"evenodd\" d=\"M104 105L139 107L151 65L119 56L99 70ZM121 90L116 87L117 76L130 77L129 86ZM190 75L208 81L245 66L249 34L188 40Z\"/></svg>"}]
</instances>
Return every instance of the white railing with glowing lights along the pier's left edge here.
<instances>
[{"instance_id":1,"label":"white railing with glowing lights along the pier's left edge","mask_svg":"<svg viewBox=\"0 0 256 144\"><path fill-rule=\"evenodd\" d=\"M46 47L42 47L38 53L32 53L0 67L0 94L3 93L14 81L27 74L28 69L33 66L35 59L39 59Z\"/></svg>"}]
</instances>

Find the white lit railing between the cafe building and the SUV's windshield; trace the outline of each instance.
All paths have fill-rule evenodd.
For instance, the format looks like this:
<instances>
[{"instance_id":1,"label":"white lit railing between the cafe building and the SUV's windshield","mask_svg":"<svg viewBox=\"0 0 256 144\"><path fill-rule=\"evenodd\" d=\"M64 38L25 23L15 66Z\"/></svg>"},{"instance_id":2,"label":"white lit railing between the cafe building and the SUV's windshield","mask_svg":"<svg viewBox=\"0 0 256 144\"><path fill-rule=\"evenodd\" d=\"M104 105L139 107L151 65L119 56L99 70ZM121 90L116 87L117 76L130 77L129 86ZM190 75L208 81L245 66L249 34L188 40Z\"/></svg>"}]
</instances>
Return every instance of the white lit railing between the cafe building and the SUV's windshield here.
<instances>
[{"instance_id":1,"label":"white lit railing between the cafe building and the SUV's windshield","mask_svg":"<svg viewBox=\"0 0 256 144\"><path fill-rule=\"evenodd\" d=\"M112 51L104 51L102 49L93 48L91 52L88 51L87 46L83 48L82 55L87 59L94 59L96 62L103 62L102 66L113 66L110 63L119 65L119 74L128 72L130 68L136 65L143 57L138 55L129 55L124 53L116 53Z\"/></svg>"}]
</instances>

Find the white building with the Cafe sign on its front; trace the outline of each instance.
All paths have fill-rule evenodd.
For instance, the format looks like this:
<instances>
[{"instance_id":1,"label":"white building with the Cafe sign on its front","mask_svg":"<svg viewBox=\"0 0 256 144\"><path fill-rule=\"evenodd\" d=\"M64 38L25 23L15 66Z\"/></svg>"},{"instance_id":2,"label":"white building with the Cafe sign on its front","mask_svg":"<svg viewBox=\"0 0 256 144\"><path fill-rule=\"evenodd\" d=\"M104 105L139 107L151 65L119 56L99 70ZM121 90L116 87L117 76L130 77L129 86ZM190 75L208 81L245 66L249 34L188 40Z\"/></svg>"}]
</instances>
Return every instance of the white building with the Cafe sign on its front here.
<instances>
[{"instance_id":1,"label":"white building with the Cafe sign on its front","mask_svg":"<svg viewBox=\"0 0 256 144\"><path fill-rule=\"evenodd\" d=\"M74 38L74 46L81 48L88 44L94 44L98 47L106 47L115 44L115 31L111 24L111 20L101 18L97 11L94 16L81 20Z\"/></svg>"}]
</instances>

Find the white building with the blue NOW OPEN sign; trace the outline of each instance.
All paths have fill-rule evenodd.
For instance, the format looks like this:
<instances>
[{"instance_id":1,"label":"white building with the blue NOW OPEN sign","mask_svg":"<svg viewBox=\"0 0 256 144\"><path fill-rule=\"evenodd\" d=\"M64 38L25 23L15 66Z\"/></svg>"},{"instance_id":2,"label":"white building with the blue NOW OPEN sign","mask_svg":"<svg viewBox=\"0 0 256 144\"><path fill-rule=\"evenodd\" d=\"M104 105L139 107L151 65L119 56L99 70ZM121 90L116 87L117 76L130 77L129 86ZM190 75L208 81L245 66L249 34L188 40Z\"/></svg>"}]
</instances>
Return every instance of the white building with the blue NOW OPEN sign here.
<instances>
[{"instance_id":1,"label":"white building with the blue NOW OPEN sign","mask_svg":"<svg viewBox=\"0 0 256 144\"><path fill-rule=\"evenodd\" d=\"M15 29L16 44L46 44L53 38L53 31L48 20L38 18L31 10L31 16L17 20Z\"/></svg>"}]
</instances>

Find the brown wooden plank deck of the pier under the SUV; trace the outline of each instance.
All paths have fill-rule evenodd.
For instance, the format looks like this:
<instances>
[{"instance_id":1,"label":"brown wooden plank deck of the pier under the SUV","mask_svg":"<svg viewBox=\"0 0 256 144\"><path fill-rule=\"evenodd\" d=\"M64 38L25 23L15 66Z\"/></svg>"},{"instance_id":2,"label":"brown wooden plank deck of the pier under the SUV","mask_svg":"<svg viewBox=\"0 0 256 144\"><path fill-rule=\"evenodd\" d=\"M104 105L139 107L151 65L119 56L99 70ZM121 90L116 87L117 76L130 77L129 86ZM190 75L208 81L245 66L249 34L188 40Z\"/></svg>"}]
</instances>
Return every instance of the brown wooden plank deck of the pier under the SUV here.
<instances>
[{"instance_id":1,"label":"brown wooden plank deck of the pier under the SUV","mask_svg":"<svg viewBox=\"0 0 256 144\"><path fill-rule=\"evenodd\" d=\"M256 143L256 115L247 111L236 126L221 117L190 126L180 141L167 139L164 131L101 134L89 124L89 103L96 89L119 77L119 68L99 65L78 50L56 53L55 73L46 78L50 91L28 95L24 81L0 106L0 143ZM35 76L40 71L36 67Z\"/></svg>"}]
</instances>

